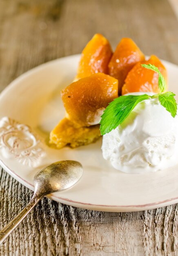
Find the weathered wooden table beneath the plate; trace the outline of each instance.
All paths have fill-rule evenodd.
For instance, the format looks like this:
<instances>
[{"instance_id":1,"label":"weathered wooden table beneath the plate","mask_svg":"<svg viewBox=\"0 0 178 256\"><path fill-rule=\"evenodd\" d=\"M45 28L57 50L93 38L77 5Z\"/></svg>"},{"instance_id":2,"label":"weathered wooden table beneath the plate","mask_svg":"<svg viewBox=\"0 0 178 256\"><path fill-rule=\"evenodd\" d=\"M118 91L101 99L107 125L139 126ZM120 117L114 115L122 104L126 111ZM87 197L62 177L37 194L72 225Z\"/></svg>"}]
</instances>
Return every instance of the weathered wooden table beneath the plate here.
<instances>
[{"instance_id":1,"label":"weathered wooden table beneath the plate","mask_svg":"<svg viewBox=\"0 0 178 256\"><path fill-rule=\"evenodd\" d=\"M113 49L120 38L131 37L145 54L178 64L178 21L167 0L1 0L0 90L32 67L80 53L96 32L104 34ZM0 171L1 228L31 196L29 189ZM177 205L109 213L47 198L0 247L3 256L176 253Z\"/></svg>"}]
</instances>

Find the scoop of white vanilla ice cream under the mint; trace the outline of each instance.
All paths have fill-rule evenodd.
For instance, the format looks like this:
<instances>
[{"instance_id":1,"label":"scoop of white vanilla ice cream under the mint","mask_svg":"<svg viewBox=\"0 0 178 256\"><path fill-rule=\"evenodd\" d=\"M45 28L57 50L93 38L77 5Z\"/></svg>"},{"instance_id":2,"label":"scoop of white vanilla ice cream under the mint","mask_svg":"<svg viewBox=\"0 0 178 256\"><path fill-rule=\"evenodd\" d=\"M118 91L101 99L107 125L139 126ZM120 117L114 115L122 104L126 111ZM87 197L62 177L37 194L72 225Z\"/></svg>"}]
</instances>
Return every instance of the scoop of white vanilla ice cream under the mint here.
<instances>
[{"instance_id":1,"label":"scoop of white vanilla ice cream under the mint","mask_svg":"<svg viewBox=\"0 0 178 256\"><path fill-rule=\"evenodd\" d=\"M145 93L153 95L132 95ZM125 173L174 166L178 163L178 116L173 118L158 99L142 101L120 126L103 136L102 154Z\"/></svg>"}]
</instances>

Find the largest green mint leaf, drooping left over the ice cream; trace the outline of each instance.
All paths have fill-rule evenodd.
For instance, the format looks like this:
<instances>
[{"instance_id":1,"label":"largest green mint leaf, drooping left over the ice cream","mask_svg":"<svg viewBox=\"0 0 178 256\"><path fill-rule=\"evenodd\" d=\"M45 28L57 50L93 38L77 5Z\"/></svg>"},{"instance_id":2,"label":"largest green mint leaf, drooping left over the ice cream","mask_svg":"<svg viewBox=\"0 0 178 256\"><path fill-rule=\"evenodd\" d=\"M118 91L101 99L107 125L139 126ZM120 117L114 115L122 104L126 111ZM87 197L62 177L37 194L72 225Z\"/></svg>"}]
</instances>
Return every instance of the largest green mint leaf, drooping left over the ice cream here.
<instances>
[{"instance_id":1,"label":"largest green mint leaf, drooping left over the ice cream","mask_svg":"<svg viewBox=\"0 0 178 256\"><path fill-rule=\"evenodd\" d=\"M100 132L104 135L118 127L128 117L135 106L146 99L147 94L120 96L114 99L105 109L100 121Z\"/></svg>"}]
</instances>

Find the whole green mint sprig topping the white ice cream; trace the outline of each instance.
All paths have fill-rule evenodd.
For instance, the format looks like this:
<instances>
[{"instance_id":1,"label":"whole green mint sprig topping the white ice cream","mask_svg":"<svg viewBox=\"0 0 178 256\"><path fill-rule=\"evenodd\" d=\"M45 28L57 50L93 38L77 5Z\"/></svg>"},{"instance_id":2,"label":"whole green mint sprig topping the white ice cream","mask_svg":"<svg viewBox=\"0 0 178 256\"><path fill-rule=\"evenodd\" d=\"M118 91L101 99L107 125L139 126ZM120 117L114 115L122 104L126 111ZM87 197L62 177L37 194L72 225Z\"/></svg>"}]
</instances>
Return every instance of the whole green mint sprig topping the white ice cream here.
<instances>
[{"instance_id":1,"label":"whole green mint sprig topping the white ice cream","mask_svg":"<svg viewBox=\"0 0 178 256\"><path fill-rule=\"evenodd\" d=\"M101 135L105 135L106 133L111 132L111 130L122 124L122 122L129 116L131 111L137 106L137 104L147 99L158 98L160 104L171 113L172 117L176 116L177 103L174 99L175 94L173 92L163 93L166 88L166 83L164 77L158 70L158 67L155 67L151 64L142 64L142 67L148 68L158 73L158 87L160 89L160 93L154 94L153 96L148 94L120 96L117 99L114 99L111 103L109 103L109 106L107 106L103 115L101 116Z\"/></svg>"}]
</instances>

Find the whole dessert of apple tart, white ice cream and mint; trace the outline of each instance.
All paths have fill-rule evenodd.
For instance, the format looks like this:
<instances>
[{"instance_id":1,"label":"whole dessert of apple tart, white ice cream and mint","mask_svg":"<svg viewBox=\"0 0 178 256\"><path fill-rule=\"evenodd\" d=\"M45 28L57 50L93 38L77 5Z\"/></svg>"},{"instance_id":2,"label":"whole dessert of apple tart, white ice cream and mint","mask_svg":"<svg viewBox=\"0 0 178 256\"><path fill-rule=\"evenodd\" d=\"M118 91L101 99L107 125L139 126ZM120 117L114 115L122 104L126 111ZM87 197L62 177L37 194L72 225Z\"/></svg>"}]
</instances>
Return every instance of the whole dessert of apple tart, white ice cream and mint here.
<instances>
[{"instance_id":1,"label":"whole dessert of apple tart, white ice cream and mint","mask_svg":"<svg viewBox=\"0 0 178 256\"><path fill-rule=\"evenodd\" d=\"M76 77L61 92L66 115L50 133L57 148L76 148L101 135L102 154L126 173L158 171L178 162L175 94L167 70L130 38L112 52L96 34L82 51Z\"/></svg>"}]
</instances>

